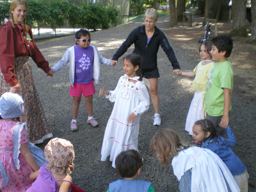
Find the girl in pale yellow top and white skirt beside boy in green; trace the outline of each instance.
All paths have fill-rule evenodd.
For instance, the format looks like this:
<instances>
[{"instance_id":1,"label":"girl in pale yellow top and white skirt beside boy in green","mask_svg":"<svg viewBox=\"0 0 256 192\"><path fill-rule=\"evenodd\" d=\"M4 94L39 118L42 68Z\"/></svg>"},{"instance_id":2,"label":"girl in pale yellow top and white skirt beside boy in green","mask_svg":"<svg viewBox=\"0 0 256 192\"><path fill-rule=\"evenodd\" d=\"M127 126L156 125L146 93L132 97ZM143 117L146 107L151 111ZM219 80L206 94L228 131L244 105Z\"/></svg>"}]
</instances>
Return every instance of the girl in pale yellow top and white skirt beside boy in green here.
<instances>
[{"instance_id":1,"label":"girl in pale yellow top and white skirt beside boy in green","mask_svg":"<svg viewBox=\"0 0 256 192\"><path fill-rule=\"evenodd\" d=\"M204 94L206 90L206 83L209 79L209 74L214 68L214 62L210 60L211 42L204 41L199 48L199 54L203 59L193 71L182 72L181 75L187 77L195 77L193 81L193 88L196 90L194 97L191 101L187 119L185 124L185 131L189 135L193 135L192 128L196 121L206 118L206 111L204 108Z\"/></svg>"}]
</instances>

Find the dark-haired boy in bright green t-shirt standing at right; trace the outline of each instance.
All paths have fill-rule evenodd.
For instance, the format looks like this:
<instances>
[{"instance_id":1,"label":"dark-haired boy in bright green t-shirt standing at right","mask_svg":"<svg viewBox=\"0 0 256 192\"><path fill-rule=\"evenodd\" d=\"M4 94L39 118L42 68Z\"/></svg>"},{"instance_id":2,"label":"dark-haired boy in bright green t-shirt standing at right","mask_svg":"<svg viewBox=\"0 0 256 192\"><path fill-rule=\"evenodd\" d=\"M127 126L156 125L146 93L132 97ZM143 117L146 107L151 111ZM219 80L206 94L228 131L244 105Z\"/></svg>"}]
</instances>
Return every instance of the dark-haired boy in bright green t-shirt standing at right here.
<instances>
[{"instance_id":1,"label":"dark-haired boy in bright green t-shirt standing at right","mask_svg":"<svg viewBox=\"0 0 256 192\"><path fill-rule=\"evenodd\" d=\"M233 40L228 35L218 35L211 41L212 49L210 54L212 60L217 64L212 69L206 86L204 100L207 112L206 119L214 123L219 134L222 134L223 129L229 123L228 115L231 110L233 70L227 58L232 52Z\"/></svg>"}]
</instances>

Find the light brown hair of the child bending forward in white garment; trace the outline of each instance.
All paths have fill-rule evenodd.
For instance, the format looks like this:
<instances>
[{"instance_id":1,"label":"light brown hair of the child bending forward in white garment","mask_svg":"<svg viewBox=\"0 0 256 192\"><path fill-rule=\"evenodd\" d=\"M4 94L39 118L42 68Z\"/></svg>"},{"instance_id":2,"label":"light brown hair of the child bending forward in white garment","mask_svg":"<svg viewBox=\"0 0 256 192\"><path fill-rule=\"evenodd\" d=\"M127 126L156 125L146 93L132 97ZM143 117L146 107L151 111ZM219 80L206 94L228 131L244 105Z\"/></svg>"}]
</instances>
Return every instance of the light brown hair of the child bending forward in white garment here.
<instances>
[{"instance_id":1,"label":"light brown hair of the child bending forward in white garment","mask_svg":"<svg viewBox=\"0 0 256 192\"><path fill-rule=\"evenodd\" d=\"M169 164L181 150L189 147L175 131L170 129L160 129L151 139L150 146L153 151L161 154L158 158L165 164Z\"/></svg>"}]
</instances>

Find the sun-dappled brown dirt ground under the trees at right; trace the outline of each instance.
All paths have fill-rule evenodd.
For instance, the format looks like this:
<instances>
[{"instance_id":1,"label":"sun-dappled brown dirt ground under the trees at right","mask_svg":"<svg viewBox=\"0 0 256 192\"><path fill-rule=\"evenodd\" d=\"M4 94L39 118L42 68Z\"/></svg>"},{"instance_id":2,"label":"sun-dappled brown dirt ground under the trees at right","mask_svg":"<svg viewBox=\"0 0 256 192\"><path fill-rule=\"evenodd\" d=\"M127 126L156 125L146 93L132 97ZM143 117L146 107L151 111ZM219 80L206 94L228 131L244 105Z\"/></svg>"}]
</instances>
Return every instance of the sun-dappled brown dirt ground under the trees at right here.
<instances>
[{"instance_id":1,"label":"sun-dappled brown dirt ground under the trees at right","mask_svg":"<svg viewBox=\"0 0 256 192\"><path fill-rule=\"evenodd\" d=\"M178 24L178 27L167 28L164 33L172 38L173 42L179 47L184 49L190 56L197 57L197 50L199 49L198 39L200 36L204 36L204 28L202 26L204 17L199 15L193 15L192 27L188 26L188 22L182 26L182 23ZM211 23L210 23L211 24ZM250 24L247 25L247 29L250 29ZM232 29L232 24L228 22L219 22L217 27L217 33L228 34ZM250 31L248 30L250 33ZM214 37L215 24L211 24L211 36ZM251 101L256 99L256 46L249 44L249 38L245 37L232 37L233 50L228 58L233 66L234 72L234 86L241 97L246 97ZM181 43L183 42L183 43ZM256 111L256 110L255 110ZM256 112L255 112L256 113Z\"/></svg>"}]
</instances>

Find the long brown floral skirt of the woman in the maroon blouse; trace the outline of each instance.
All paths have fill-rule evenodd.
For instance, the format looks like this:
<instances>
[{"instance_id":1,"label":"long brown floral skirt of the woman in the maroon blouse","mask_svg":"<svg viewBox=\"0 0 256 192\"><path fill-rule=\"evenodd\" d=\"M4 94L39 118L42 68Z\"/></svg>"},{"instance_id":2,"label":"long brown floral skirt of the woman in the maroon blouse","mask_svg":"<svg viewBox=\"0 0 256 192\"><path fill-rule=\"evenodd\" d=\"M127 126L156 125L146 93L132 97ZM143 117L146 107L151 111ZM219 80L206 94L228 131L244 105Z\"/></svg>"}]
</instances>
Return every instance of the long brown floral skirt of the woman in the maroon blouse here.
<instances>
[{"instance_id":1,"label":"long brown floral skirt of the woman in the maroon blouse","mask_svg":"<svg viewBox=\"0 0 256 192\"><path fill-rule=\"evenodd\" d=\"M28 56L15 57L14 74L16 74L16 79L20 84L18 94L24 99L24 114L20 120L27 122L29 141L35 144L41 143L52 137L52 133L35 88ZM0 72L0 88L0 95L11 89L2 72Z\"/></svg>"}]
</instances>

